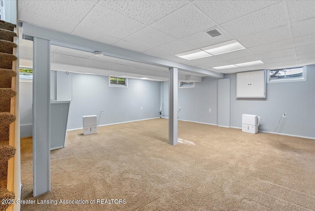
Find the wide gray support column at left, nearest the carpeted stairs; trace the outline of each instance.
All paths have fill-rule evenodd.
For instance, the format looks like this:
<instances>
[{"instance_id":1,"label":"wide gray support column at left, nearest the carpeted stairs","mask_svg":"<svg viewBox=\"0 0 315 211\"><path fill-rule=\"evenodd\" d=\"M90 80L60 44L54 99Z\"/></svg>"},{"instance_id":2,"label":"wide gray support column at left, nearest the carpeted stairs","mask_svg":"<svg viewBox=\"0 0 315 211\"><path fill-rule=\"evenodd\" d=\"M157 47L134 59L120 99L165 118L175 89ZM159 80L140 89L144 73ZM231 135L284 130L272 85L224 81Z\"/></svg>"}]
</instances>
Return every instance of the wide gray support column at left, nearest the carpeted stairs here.
<instances>
[{"instance_id":1,"label":"wide gray support column at left, nearest the carpeted stairs","mask_svg":"<svg viewBox=\"0 0 315 211\"><path fill-rule=\"evenodd\" d=\"M50 40L33 38L33 196L50 191Z\"/></svg>"}]
</instances>

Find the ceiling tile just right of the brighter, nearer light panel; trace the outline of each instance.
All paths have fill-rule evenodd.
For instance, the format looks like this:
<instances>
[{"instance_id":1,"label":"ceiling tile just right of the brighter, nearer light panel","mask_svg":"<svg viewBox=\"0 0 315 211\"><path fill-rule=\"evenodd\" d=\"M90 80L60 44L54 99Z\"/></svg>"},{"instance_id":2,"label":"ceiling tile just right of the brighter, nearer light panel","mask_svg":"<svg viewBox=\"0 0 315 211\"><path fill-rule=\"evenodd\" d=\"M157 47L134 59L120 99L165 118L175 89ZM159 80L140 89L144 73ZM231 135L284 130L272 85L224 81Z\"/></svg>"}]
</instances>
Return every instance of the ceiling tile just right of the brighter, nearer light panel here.
<instances>
[{"instance_id":1,"label":"ceiling tile just right of the brighter, nearer light panel","mask_svg":"<svg viewBox=\"0 0 315 211\"><path fill-rule=\"evenodd\" d=\"M294 48L293 39L286 39L278 42L258 45L249 48L254 54L268 53L272 51L279 51L284 49Z\"/></svg>"}]
</instances>

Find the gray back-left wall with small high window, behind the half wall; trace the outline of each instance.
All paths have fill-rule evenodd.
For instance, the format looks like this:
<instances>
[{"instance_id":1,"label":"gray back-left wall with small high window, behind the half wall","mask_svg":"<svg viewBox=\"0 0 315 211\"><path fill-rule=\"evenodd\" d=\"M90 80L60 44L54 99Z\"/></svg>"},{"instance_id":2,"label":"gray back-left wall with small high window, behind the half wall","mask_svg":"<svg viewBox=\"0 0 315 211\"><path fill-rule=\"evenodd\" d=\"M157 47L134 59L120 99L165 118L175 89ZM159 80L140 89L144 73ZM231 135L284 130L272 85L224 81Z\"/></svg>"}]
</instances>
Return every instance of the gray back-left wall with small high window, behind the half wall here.
<instances>
[{"instance_id":1,"label":"gray back-left wall with small high window, behind the half wall","mask_svg":"<svg viewBox=\"0 0 315 211\"><path fill-rule=\"evenodd\" d=\"M66 81L58 81L59 91L68 92ZM72 73L73 93L67 129L82 128L85 115L97 115L98 125L158 117L159 82L128 79L128 88L109 87L108 84L108 76Z\"/></svg>"}]
</instances>

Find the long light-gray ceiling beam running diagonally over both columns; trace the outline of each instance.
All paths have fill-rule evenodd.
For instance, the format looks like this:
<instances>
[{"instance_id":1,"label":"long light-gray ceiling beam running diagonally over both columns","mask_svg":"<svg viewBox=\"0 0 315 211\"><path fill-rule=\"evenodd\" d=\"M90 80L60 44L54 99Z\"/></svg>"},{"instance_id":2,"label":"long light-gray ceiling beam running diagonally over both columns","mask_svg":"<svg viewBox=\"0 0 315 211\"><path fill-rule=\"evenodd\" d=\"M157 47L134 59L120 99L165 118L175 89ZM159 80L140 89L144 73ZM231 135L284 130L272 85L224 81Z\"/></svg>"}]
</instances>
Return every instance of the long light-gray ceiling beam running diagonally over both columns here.
<instances>
[{"instance_id":1,"label":"long light-gray ceiling beam running diagonally over both columns","mask_svg":"<svg viewBox=\"0 0 315 211\"><path fill-rule=\"evenodd\" d=\"M51 40L54 45L68 47L72 49L87 51L94 53L101 51L106 56L126 59L135 62L141 62L149 65L155 65L165 68L178 68L192 73L203 74L205 76L223 78L222 73L214 72L211 70L204 70L201 68L184 65L167 59L162 59L147 54L127 50L113 45L108 45L101 42L96 42L90 39L82 38L75 35L69 35L63 32L58 32L51 29L35 26L29 23L23 23L23 38L32 40L33 37L39 37Z\"/></svg>"}]
</instances>

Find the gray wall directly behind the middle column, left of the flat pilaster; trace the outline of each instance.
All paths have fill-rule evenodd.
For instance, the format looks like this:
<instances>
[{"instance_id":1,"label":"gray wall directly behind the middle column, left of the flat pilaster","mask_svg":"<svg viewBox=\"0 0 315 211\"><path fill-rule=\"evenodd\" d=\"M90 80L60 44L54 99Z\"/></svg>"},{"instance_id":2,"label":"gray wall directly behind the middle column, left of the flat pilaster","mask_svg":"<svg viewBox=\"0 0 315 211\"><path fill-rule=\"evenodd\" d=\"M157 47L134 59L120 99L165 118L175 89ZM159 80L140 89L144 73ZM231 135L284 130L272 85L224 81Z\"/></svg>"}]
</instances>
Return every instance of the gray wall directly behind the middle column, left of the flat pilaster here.
<instances>
[{"instance_id":1,"label":"gray wall directly behind the middle column, left of the flat pilaster","mask_svg":"<svg viewBox=\"0 0 315 211\"><path fill-rule=\"evenodd\" d=\"M168 115L168 81L163 82L162 95L163 114ZM179 88L178 106L181 107L178 114L180 120L217 124L218 79L203 77L201 82L195 83L194 88Z\"/></svg>"}]
</instances>

